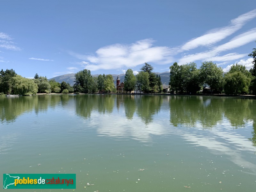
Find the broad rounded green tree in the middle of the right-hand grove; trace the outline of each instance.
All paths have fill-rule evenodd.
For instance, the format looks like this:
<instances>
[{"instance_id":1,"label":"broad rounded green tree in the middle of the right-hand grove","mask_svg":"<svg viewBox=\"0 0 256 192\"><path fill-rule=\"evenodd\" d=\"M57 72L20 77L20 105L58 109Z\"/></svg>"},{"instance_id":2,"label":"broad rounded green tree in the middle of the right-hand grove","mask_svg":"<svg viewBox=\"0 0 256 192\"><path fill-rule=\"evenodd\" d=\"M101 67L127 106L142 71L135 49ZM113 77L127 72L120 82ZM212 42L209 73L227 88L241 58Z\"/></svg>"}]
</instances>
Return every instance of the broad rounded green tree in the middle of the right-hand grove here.
<instances>
[{"instance_id":1,"label":"broad rounded green tree in the middle of the right-hand grove","mask_svg":"<svg viewBox=\"0 0 256 192\"><path fill-rule=\"evenodd\" d=\"M199 68L200 79L203 84L208 84L212 92L220 92L223 85L223 70L212 61L204 61Z\"/></svg>"}]
</instances>

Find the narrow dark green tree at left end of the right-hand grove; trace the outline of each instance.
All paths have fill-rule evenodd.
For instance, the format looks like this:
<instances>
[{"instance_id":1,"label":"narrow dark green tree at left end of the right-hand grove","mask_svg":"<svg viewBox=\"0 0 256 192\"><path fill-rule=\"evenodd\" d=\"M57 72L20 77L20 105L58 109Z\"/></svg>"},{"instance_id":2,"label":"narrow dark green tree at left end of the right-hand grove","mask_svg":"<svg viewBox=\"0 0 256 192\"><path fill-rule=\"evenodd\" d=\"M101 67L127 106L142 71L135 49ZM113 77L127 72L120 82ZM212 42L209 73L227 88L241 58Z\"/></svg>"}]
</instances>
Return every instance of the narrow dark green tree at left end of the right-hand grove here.
<instances>
[{"instance_id":1,"label":"narrow dark green tree at left end of the right-hand grove","mask_svg":"<svg viewBox=\"0 0 256 192\"><path fill-rule=\"evenodd\" d=\"M181 73L180 73L180 66L177 62L174 62L173 65L170 67L170 82L171 89L173 91L181 91L181 81L180 81Z\"/></svg>"}]
</instances>

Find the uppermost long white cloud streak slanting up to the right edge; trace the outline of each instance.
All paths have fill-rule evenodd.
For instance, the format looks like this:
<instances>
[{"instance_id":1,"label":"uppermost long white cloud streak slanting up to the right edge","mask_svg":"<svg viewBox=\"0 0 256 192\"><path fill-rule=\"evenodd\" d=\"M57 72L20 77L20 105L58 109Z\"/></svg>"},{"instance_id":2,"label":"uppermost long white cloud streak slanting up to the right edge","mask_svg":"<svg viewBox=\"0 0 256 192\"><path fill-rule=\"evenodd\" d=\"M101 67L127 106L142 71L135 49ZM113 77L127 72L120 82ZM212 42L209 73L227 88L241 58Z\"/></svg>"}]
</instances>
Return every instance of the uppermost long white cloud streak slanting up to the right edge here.
<instances>
[{"instance_id":1,"label":"uppermost long white cloud streak slanting up to the right edge","mask_svg":"<svg viewBox=\"0 0 256 192\"><path fill-rule=\"evenodd\" d=\"M236 19L231 20L230 25L228 25L227 27L212 29L205 35L188 41L187 43L181 46L180 52L188 51L199 46L208 46L215 44L225 39L226 37L232 35L237 30L241 29L246 24L246 22L252 20L255 17L256 9L247 12L243 15L240 15Z\"/></svg>"}]
</instances>

